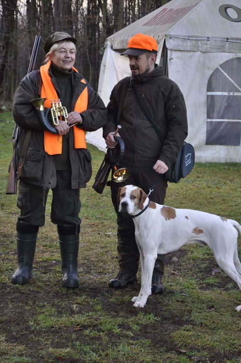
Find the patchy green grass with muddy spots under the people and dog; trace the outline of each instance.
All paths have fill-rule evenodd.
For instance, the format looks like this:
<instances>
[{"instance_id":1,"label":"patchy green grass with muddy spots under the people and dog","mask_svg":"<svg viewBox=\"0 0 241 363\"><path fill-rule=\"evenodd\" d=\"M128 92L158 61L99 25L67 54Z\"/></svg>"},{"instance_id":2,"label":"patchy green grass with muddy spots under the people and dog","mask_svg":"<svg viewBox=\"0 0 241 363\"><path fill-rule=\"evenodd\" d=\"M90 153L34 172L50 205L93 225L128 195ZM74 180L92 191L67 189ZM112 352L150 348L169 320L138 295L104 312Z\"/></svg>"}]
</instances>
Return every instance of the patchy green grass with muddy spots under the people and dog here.
<instances>
[{"instance_id":1,"label":"patchy green grass with muddy spots under the people and dog","mask_svg":"<svg viewBox=\"0 0 241 363\"><path fill-rule=\"evenodd\" d=\"M165 293L151 295L143 309L131 302L140 289L140 271L137 284L109 288L118 271L115 212L110 188L102 195L92 188L104 156L92 145L93 176L81 189L79 289L61 286L51 193L33 276L28 285L11 284L19 214L16 195L5 195L12 131L11 114L0 113L0 362L241 362L241 314L234 310L241 292L208 247L185 246L167 254ZM240 163L196 163L187 178L169 184L165 204L240 223L240 176ZM240 244L239 236L239 252Z\"/></svg>"}]
</instances>

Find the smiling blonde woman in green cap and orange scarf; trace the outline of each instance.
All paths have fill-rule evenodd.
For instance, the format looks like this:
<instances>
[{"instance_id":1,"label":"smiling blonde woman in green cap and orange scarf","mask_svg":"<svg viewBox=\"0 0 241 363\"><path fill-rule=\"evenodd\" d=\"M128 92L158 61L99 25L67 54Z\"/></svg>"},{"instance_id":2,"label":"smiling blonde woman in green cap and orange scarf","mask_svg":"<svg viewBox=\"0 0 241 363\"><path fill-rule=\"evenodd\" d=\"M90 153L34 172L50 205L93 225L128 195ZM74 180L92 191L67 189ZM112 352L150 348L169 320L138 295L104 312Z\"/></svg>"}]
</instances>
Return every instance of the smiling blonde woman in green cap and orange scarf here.
<instances>
[{"instance_id":1,"label":"smiling blonde woman in green cap and orange scarf","mask_svg":"<svg viewBox=\"0 0 241 363\"><path fill-rule=\"evenodd\" d=\"M23 78L13 98L13 118L19 126L16 164L20 180L17 197L20 215L16 224L18 266L11 277L13 284L26 284L31 277L37 233L45 223L46 199L51 188L50 217L57 225L62 285L79 286L79 188L86 187L92 172L85 131L104 126L107 111L99 95L73 67L76 42L76 38L65 32L50 35L44 46L45 64ZM68 123L55 119L58 125L48 128L55 133L46 131L46 117L39 118L35 103L30 102L37 98L45 99L45 108L51 107L51 100L60 99L68 112Z\"/></svg>"}]
</instances>

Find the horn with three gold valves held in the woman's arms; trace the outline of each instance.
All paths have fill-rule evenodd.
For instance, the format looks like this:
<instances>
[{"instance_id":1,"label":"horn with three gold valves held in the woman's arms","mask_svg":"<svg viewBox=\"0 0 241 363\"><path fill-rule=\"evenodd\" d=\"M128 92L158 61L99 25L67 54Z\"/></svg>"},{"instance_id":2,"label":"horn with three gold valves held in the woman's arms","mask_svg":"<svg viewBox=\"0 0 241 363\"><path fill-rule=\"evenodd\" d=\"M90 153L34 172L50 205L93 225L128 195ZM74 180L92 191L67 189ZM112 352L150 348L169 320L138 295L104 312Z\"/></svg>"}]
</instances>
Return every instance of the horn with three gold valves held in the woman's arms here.
<instances>
[{"instance_id":1,"label":"horn with three gold valves held in the woman's arms","mask_svg":"<svg viewBox=\"0 0 241 363\"><path fill-rule=\"evenodd\" d=\"M58 125L59 118L61 118L67 123L68 112L66 110L66 107L62 106L60 99L56 99L54 101L51 100L51 107L47 109L45 113L44 111L45 99L46 98L36 98L30 101L30 103L35 107L38 118L44 130L52 132L52 134L58 134L58 131L55 129L53 125ZM51 115L52 124L48 120L49 112ZM69 125L69 127L77 125L77 123L73 123L72 125Z\"/></svg>"}]
</instances>

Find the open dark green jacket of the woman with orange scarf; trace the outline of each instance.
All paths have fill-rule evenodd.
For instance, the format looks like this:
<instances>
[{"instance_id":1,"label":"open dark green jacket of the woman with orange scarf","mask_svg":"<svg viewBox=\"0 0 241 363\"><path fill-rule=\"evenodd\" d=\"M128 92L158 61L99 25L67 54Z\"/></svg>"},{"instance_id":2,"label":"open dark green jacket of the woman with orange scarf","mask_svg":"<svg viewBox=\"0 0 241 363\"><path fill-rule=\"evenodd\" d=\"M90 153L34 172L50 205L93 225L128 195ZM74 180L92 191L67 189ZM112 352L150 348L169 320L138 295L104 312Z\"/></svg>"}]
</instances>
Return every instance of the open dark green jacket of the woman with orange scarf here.
<instances>
[{"instance_id":1,"label":"open dark green jacket of the woman with orange scarf","mask_svg":"<svg viewBox=\"0 0 241 363\"><path fill-rule=\"evenodd\" d=\"M49 70L50 76L58 97L60 97L57 83ZM83 76L74 72L73 74L73 97L70 111L74 110L74 105L79 94L85 87L88 89L87 110L81 113L83 124L80 126L85 131L95 131L103 127L106 123L107 109L99 95L90 87L81 82ZM31 129L31 136L26 153L25 163L22 168L20 180L26 183L41 186L43 188L54 188L56 186L56 169L54 157L44 150L44 129L38 119L35 107L29 102L40 97L40 72L38 70L27 74L20 82L13 97L13 118L19 126L19 141L16 149L16 166L19 158L26 131ZM63 103L63 101L62 101ZM73 127L69 130L69 158L72 170L72 189L85 188L87 181L91 178L91 155L89 150L74 148Z\"/></svg>"}]
</instances>

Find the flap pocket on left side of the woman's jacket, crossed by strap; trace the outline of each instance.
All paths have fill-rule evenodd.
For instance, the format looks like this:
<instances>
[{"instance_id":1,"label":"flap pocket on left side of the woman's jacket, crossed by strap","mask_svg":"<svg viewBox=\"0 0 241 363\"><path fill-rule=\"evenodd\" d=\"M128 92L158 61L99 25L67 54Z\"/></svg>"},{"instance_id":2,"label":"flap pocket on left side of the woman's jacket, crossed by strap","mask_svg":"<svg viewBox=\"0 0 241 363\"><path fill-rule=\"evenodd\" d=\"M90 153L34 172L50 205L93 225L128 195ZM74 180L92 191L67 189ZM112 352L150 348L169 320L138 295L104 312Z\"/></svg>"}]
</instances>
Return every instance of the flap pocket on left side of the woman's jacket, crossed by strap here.
<instances>
[{"instance_id":1,"label":"flap pocket on left side of the woman's jacket, crossed by strap","mask_svg":"<svg viewBox=\"0 0 241 363\"><path fill-rule=\"evenodd\" d=\"M16 162L19 165L19 159L21 156L22 145L17 145L16 148ZM41 181L42 180L42 170L44 164L44 150L30 146L26 152L25 162L21 171L21 179Z\"/></svg>"}]
</instances>

